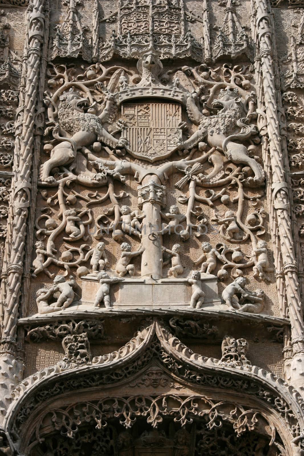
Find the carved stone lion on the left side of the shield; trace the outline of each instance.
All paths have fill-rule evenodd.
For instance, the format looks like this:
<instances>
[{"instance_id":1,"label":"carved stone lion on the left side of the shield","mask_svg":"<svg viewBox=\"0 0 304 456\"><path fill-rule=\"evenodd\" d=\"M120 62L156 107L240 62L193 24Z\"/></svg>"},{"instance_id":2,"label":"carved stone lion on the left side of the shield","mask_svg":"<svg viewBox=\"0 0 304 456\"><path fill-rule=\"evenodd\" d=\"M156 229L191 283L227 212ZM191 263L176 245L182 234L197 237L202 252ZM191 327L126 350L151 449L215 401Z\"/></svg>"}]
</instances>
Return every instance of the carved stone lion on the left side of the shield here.
<instances>
[{"instance_id":1,"label":"carved stone lion on the left side of the shield","mask_svg":"<svg viewBox=\"0 0 304 456\"><path fill-rule=\"evenodd\" d=\"M63 93L59 99L58 124L53 130L53 136L61 142L51 150L51 158L41 165L41 181L54 182L55 178L50 176L52 169L57 166L69 165L75 161L73 168L83 180L102 183L104 176L88 170L88 161L82 152L86 152L86 148L95 141L100 141L113 148L127 145L127 140L114 138L103 127L108 111L113 105L113 97L108 95L105 108L99 116L92 112L84 112L84 108L88 106L88 99L82 98L72 89ZM70 137L59 136L58 133L61 131Z\"/></svg>"}]
</instances>

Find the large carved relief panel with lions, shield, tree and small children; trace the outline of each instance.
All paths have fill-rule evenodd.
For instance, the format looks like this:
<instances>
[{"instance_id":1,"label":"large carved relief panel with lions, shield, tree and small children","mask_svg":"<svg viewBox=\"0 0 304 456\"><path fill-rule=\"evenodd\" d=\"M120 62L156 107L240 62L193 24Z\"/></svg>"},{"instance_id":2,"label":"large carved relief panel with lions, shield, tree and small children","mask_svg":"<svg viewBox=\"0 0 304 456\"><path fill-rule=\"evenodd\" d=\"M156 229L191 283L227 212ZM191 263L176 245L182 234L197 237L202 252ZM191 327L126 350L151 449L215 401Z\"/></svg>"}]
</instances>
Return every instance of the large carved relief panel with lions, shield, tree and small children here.
<instances>
[{"instance_id":1,"label":"large carved relief panel with lions, shield, tree and small children","mask_svg":"<svg viewBox=\"0 0 304 456\"><path fill-rule=\"evenodd\" d=\"M217 280L247 271L265 285L273 280L268 243L260 239L264 171L248 91L252 67L168 70L151 49L134 70L97 63L80 73L51 64L48 74L37 200L45 206L36 216L33 277L73 273L82 288L73 309L132 302L133 278L138 290L160 290L155 298L148 293L147 304L169 301L162 284L170 289L177 280L179 302L196 309L212 302L225 309ZM170 192L174 204L167 206ZM210 242L212 231L222 242ZM192 260L196 238L203 254ZM264 293L243 311L262 311ZM141 291L135 296L140 306ZM57 311L55 302L38 300Z\"/></svg>"}]
</instances>

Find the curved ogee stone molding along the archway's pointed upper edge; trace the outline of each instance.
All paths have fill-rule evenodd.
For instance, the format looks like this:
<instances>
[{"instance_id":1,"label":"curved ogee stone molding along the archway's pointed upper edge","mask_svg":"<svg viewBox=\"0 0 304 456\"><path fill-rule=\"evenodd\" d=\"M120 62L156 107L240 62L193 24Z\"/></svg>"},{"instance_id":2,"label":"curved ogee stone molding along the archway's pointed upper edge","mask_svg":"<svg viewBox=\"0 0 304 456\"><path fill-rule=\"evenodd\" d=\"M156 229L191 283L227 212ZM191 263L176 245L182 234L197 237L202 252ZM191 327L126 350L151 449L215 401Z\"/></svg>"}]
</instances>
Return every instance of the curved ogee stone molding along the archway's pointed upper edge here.
<instances>
[{"instance_id":1,"label":"curved ogee stone molding along the archway's pointed upper edge","mask_svg":"<svg viewBox=\"0 0 304 456\"><path fill-rule=\"evenodd\" d=\"M225 374L226 376L230 375L232 378L235 377L235 386L233 386L232 381L227 382L227 380L226 386L224 386L225 381L223 379L220 380L219 385L222 385L220 387L229 389L238 389L240 384L239 382L241 381L242 383L241 378L243 378L243 381L250 380L251 382L253 382L252 385L255 384L257 387L258 385L260 386L258 387L258 389L254 388L252 390L252 393L250 393L250 391L247 390L247 394L257 395L257 397L259 397L262 400L263 398L268 398L266 399L266 404L269 404L269 399L272 398L270 400L272 406L277 409L279 414L283 414L284 419L290 420L290 429L294 426L294 420L302 419L300 418L302 413L300 410L302 410L304 405L299 393L296 390L292 389L288 385L288 383L284 382L282 379L276 378L273 374L268 373L264 369L260 369L248 363L248 361L242 354L242 350L241 352L239 352L239 354L236 354L236 352L233 354L233 350L235 350L235 344L237 344L237 342L234 342L232 351L231 349L228 349L227 344L225 344L224 358L222 358L222 360L206 358L202 355L193 353L188 347L183 345L176 337L170 334L170 332L165 330L165 328L163 328L158 322L154 322L151 326L148 326L146 329L138 332L135 335L134 339L132 339L128 344L126 344L125 347L122 347L118 352L114 352L109 355L103 355L101 357L95 357L93 358L92 363L88 362L85 366L80 365L76 369L83 370L82 379L84 380L85 372L88 373L89 371L91 371L93 373L96 369L98 369L99 372L101 372L100 369L102 369L103 371L110 369L113 372L113 368L115 367L119 367L119 369L122 369L124 365L130 366L136 359L139 358L139 356L143 356L145 351L149 353L150 344L152 343L153 346L153 340L155 335L157 335L159 341L158 343L160 343L160 346L162 347L157 349L158 356L160 357L159 359L162 360L163 363L165 363L165 366L169 368L169 370L173 369L175 375L179 376L179 369L181 368L181 366L188 366L188 369L191 369L187 371L186 375L185 373L182 374L187 382L191 383L193 381L196 381L196 378L202 378L202 374L207 374L208 372L213 372L213 374L211 374L210 377L210 380L213 378L213 382L215 381L215 372L216 375L219 376L219 379L221 375L225 376ZM75 337L75 351L77 352L78 336L72 337ZM235 360L233 362L227 361L226 354L228 354L229 359L232 359L230 357L230 353L232 354L232 358ZM237 361L237 359L235 358L236 356L241 357L237 358L240 361ZM174 359L177 361L178 364L176 364L176 361L174 361ZM141 365L143 364L141 363ZM176 367L174 367L175 365ZM14 403L11 406L11 411L15 409L15 407L20 407L20 405L18 404L22 404L23 396L29 398L29 394L37 394L37 391L41 391L41 386L43 384L47 385L48 383L53 383L54 380L56 383L56 379L57 381L61 381L60 379L63 379L64 376L71 376L72 372L75 370L74 366L75 364L73 363L62 364L62 362L59 362L56 366L44 369L39 373L32 375L31 377L19 383L17 388L12 393ZM181 370L181 372L185 371ZM199 374L199 372L201 373ZM57 374L57 376L54 376L55 373ZM115 378L115 375L113 378ZM208 375L205 375L205 384L207 384L207 378ZM247 380L245 380L245 378L247 378ZM30 391L32 391L32 393L30 393ZM278 394L278 397L280 397L280 399L277 402L275 397L277 397ZM38 396L36 397L38 398ZM287 398L291 397L293 399L292 402L289 402L289 404L293 408L293 414L291 414L290 412L290 414L288 415L287 409L285 409L284 406L283 408L281 408L281 405L278 404L281 404L281 401L285 402L286 400L289 400Z\"/></svg>"}]
</instances>

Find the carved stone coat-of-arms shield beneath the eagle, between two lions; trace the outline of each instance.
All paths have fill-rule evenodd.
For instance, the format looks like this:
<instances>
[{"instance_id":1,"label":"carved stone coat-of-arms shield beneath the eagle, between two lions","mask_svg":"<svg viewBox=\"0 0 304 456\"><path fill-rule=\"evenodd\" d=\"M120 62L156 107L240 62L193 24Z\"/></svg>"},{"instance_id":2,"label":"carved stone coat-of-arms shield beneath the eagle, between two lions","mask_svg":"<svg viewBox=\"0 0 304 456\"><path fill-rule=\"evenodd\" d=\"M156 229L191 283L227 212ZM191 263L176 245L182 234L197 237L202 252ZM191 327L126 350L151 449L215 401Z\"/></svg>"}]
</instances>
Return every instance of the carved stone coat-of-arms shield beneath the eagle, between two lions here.
<instances>
[{"instance_id":1,"label":"carved stone coat-of-arms shield beneath the eagle, between two lions","mask_svg":"<svg viewBox=\"0 0 304 456\"><path fill-rule=\"evenodd\" d=\"M124 103L122 135L129 141L129 153L154 162L168 157L181 140L181 105L178 103Z\"/></svg>"}]
</instances>

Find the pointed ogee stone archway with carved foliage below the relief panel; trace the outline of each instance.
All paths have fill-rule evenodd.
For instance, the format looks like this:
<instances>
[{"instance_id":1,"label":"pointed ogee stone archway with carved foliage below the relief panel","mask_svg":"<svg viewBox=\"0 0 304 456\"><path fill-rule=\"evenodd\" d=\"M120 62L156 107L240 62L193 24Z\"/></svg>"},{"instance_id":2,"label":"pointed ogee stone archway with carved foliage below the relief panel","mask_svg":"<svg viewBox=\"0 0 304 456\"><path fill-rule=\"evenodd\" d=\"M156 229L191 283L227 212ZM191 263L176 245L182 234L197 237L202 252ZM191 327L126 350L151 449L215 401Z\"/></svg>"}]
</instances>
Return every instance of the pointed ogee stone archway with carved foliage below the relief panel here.
<instances>
[{"instance_id":1,"label":"pointed ogee stone archway with carved foliage below the relief panel","mask_svg":"<svg viewBox=\"0 0 304 456\"><path fill-rule=\"evenodd\" d=\"M121 432L139 420L140 434L148 432L147 425L169 425L170 418L179 426L175 432L187 430L191 423L203 423L210 431L224 424L241 437L253 432L260 435L257 441L266 439L272 451L266 454L275 455L274 448L278 454L296 454L294 442L301 439L303 425L299 394L282 379L252 366L244 351L246 341L228 342L221 360L206 358L155 319L117 352L92 359L85 333L67 336L62 341L65 358L25 379L13 392L7 431L19 435L21 451L31 455L34 446L56 433L58 438L75 438L85 426L116 429L118 423ZM216 436L219 441L227 438L225 429ZM119 429L115 432L119 435Z\"/></svg>"}]
</instances>

